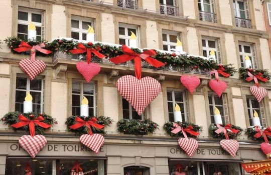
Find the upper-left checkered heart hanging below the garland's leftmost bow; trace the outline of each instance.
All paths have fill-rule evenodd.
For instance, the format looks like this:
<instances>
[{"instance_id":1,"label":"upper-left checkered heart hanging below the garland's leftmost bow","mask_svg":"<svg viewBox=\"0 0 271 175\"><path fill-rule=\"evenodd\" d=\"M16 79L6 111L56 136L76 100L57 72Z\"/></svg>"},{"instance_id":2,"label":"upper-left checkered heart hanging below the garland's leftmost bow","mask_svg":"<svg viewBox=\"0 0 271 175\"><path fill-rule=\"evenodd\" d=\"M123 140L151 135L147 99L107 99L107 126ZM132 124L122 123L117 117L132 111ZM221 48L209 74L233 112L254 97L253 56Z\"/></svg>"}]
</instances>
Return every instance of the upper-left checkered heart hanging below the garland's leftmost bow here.
<instances>
[{"instance_id":1,"label":"upper-left checkered heart hanging below the garland's leftmost bow","mask_svg":"<svg viewBox=\"0 0 271 175\"><path fill-rule=\"evenodd\" d=\"M42 60L22 59L19 62L21 69L28 74L29 78L33 80L38 74L40 74L46 67L46 64Z\"/></svg>"}]
</instances>

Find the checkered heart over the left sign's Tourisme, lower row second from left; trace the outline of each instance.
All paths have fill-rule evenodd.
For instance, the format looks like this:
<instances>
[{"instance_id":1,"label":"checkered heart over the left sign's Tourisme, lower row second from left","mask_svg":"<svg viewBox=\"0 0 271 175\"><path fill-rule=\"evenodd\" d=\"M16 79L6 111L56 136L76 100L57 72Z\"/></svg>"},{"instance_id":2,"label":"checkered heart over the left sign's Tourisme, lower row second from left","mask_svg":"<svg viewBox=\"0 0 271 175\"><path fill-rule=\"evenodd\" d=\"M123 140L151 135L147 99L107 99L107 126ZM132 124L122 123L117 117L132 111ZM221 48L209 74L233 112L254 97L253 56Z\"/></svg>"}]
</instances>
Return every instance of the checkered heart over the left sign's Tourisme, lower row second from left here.
<instances>
[{"instance_id":1,"label":"checkered heart over the left sign's Tourisme, lower row second from left","mask_svg":"<svg viewBox=\"0 0 271 175\"><path fill-rule=\"evenodd\" d=\"M80 136L80 141L87 147L89 147L91 150L93 150L95 153L98 153L100 150L100 147L104 143L104 137L101 134L83 134Z\"/></svg>"}]
</instances>

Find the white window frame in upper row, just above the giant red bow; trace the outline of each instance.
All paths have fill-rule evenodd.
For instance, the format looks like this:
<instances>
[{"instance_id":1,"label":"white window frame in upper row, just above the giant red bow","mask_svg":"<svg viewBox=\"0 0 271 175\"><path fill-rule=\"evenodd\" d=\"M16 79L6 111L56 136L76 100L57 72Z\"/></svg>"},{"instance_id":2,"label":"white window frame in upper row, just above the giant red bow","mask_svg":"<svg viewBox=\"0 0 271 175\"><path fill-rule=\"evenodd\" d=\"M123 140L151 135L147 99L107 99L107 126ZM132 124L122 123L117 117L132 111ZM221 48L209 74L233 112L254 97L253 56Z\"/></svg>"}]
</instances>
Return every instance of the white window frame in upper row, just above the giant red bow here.
<instances>
[{"instance_id":1,"label":"white window frame in upper row, just above the giant red bow","mask_svg":"<svg viewBox=\"0 0 271 175\"><path fill-rule=\"evenodd\" d=\"M119 23L118 27L123 27L125 34L118 34L119 39L125 39L125 45L129 45L130 36L128 35L128 28L135 29L136 33L134 33L137 36L137 47L140 48L140 34L139 34L139 26L137 25L131 25L131 24L125 24L125 23Z\"/></svg>"}]
</instances>

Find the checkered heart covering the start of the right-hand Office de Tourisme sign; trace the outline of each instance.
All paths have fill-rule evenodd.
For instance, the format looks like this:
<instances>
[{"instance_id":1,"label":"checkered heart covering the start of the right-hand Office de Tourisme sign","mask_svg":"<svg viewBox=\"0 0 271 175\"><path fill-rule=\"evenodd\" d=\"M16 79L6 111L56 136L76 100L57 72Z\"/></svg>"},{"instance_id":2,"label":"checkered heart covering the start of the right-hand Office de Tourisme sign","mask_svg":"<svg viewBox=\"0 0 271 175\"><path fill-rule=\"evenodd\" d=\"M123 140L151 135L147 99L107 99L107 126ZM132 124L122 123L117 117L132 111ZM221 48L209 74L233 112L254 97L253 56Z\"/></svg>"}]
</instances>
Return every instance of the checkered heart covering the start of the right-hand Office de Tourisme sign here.
<instances>
[{"instance_id":1,"label":"checkered heart covering the start of the right-hand Office de Tourisme sign","mask_svg":"<svg viewBox=\"0 0 271 175\"><path fill-rule=\"evenodd\" d=\"M179 138L178 143L180 147L190 156L193 156L193 153L198 148L199 143L194 138Z\"/></svg>"}]
</instances>

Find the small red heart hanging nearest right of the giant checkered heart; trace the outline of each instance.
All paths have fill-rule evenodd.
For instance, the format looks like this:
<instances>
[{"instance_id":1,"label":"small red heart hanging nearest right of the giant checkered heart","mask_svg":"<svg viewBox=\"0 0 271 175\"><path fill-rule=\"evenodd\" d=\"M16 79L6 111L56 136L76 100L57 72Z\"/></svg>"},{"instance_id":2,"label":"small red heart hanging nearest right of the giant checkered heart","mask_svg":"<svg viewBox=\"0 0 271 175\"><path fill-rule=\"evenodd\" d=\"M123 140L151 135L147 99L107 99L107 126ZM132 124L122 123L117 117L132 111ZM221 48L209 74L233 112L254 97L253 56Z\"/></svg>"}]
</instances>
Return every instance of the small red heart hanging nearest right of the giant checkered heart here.
<instances>
[{"instance_id":1,"label":"small red heart hanging nearest right of the giant checkered heart","mask_svg":"<svg viewBox=\"0 0 271 175\"><path fill-rule=\"evenodd\" d=\"M188 91L192 94L197 86L200 84L200 78L198 76L188 76L183 75L180 78L182 84L188 89Z\"/></svg>"}]
</instances>

